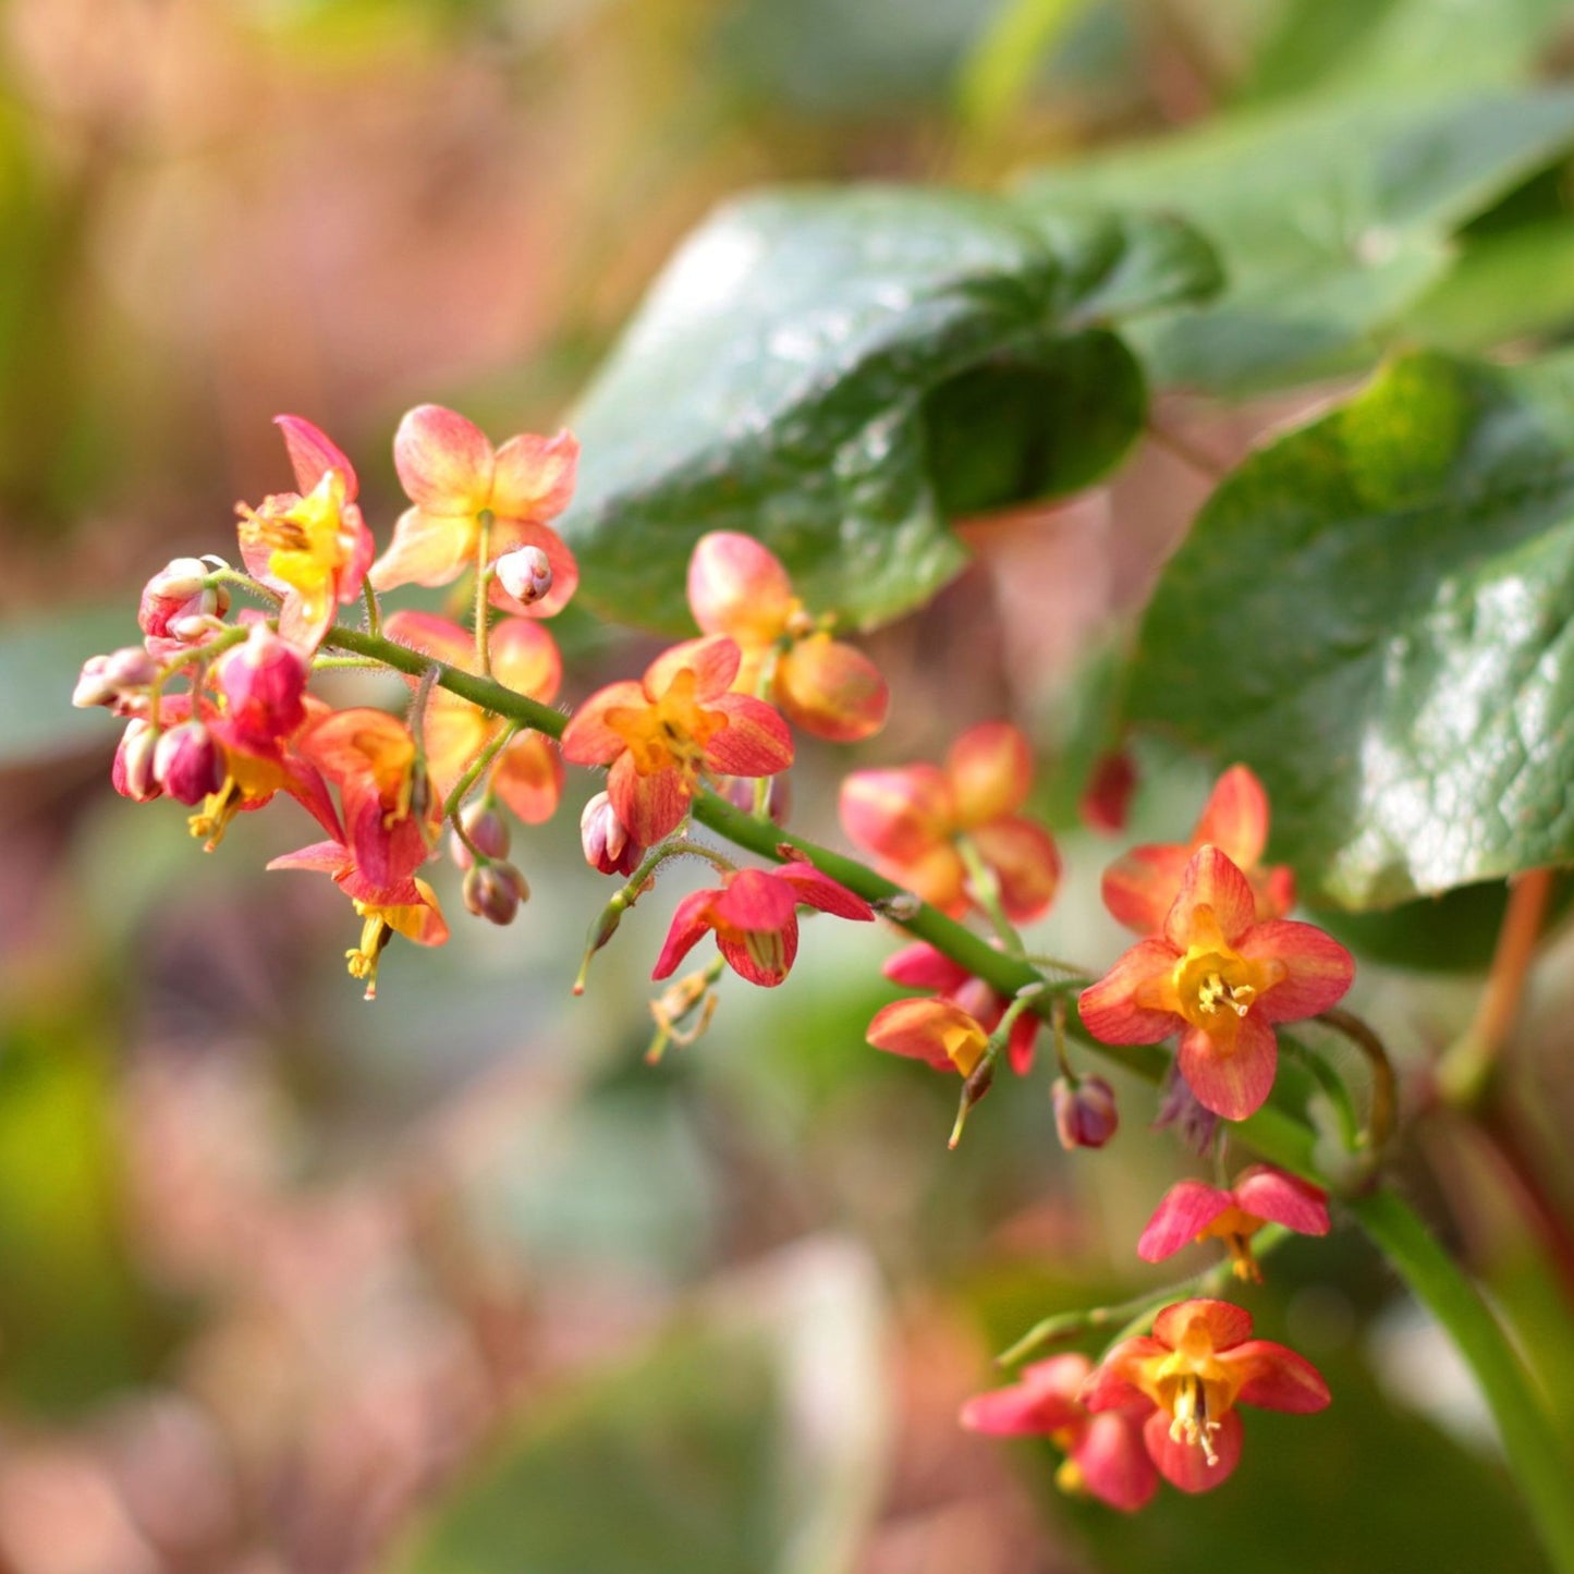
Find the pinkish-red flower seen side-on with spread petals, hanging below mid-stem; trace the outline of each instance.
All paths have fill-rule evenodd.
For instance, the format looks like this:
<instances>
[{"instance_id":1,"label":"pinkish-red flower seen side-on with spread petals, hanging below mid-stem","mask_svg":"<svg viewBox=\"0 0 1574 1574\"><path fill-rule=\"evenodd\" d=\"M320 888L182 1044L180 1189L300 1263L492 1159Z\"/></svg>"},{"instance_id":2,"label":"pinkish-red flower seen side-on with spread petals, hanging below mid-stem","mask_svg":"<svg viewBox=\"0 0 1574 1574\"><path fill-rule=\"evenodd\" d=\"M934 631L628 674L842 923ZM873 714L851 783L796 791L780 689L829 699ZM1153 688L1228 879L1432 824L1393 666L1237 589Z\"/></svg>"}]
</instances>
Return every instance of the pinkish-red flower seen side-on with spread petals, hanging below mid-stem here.
<instances>
[{"instance_id":1,"label":"pinkish-red flower seen side-on with spread petals, hanging below mid-stem","mask_svg":"<svg viewBox=\"0 0 1574 1574\"><path fill-rule=\"evenodd\" d=\"M874 908L814 864L792 861L779 869L737 869L718 891L696 891L678 902L667 941L650 976L671 977L705 933L715 930L727 966L751 984L771 988L787 977L798 955L798 908L814 907L859 922Z\"/></svg>"}]
</instances>

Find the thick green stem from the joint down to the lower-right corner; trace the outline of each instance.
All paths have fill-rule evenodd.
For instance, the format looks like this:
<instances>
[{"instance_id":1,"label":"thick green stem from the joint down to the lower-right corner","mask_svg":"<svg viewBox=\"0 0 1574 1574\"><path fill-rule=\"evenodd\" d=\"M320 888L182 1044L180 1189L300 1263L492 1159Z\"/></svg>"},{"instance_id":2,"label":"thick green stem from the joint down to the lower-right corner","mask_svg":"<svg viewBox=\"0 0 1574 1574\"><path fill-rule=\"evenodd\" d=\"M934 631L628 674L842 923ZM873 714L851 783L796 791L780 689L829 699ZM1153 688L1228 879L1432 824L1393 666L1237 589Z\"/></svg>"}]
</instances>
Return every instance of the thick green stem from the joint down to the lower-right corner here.
<instances>
[{"instance_id":1,"label":"thick green stem from the joint down to the lower-right corner","mask_svg":"<svg viewBox=\"0 0 1574 1574\"><path fill-rule=\"evenodd\" d=\"M1475 1373L1552 1566L1574 1574L1574 1461L1492 1311L1398 1195L1373 1192L1349 1209Z\"/></svg>"}]
</instances>

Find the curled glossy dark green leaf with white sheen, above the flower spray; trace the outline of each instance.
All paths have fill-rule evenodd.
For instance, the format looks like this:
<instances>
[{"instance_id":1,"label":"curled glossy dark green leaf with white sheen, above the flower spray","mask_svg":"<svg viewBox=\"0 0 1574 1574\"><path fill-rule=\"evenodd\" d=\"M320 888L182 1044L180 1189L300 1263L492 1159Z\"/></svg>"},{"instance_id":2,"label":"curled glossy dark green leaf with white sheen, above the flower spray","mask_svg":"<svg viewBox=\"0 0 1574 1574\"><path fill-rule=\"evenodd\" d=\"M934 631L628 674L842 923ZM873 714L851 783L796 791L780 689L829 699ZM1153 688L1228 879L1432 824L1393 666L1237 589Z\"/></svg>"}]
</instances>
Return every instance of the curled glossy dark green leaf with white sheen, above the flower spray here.
<instances>
[{"instance_id":1,"label":"curled glossy dark green leaf with white sheen, above the flower spray","mask_svg":"<svg viewBox=\"0 0 1574 1574\"><path fill-rule=\"evenodd\" d=\"M815 612L872 626L963 565L946 512L1086 485L1141 430L1105 326L1209 288L1173 220L902 187L765 194L680 250L575 428L562 532L597 611L693 628L688 557L745 530Z\"/></svg>"}]
</instances>

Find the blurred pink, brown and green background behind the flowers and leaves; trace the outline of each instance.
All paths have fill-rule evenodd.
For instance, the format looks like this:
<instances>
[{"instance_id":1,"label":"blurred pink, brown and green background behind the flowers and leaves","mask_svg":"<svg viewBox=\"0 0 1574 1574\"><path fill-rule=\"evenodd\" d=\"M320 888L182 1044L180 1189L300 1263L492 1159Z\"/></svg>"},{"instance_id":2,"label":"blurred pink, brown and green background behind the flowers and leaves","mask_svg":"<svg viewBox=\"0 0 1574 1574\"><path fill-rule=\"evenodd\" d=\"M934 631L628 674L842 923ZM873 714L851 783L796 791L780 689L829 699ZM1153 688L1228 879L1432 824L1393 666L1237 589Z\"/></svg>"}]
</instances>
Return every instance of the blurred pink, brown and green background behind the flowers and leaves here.
<instances>
[{"instance_id":1,"label":"blurred pink, brown and green background behind the flowers and leaves","mask_svg":"<svg viewBox=\"0 0 1574 1574\"><path fill-rule=\"evenodd\" d=\"M995 184L1248 107L1569 69L1555 0L6 0L0 1571L1539 1568L1469 1382L1352 1231L1286 1248L1253 1300L1336 1402L1250 1413L1226 1491L1125 1520L1059 1497L1045 1445L957 1429L1029 1322L1160 1281L1130 1243L1192 1160L1147 1133L1151 1089L1122 1081L1114 1144L1066 1155L1040 1050L948 1155L954 1083L863 1044L891 937L825 922L781 992L724 988L645 1067L682 877L571 999L608 894L587 778L516 842L518 922L469 921L450 880L455 941L390 952L367 1006L343 902L263 874L312 834L293 806L205 858L178 809L110 792L115 727L68 696L150 573L233 552L233 502L286 485L275 412L353 455L386 540L405 408L554 430L738 189ZM1476 225L1516 214L1574 266L1565 167ZM1325 392L1169 398L1113 486L965 526L976 567L874 641L891 727L806 751L800 828L839 839L850 763L1014 716L1070 869L1033 938L1113 957L1113 844L1050 767L1086 763L1103 653L1209 471ZM556 631L570 699L652 648ZM1184 836L1207 776L1157 746L1143 768L1132 836ZM1475 988L1373 970L1360 1006L1421 1055ZM1566 1003L1532 1006L1555 1151ZM1417 1198L1574 1431L1569 1286L1520 1223L1539 1185L1566 1234L1568 1176L1429 1165L1447 1141L1407 1155Z\"/></svg>"}]
</instances>

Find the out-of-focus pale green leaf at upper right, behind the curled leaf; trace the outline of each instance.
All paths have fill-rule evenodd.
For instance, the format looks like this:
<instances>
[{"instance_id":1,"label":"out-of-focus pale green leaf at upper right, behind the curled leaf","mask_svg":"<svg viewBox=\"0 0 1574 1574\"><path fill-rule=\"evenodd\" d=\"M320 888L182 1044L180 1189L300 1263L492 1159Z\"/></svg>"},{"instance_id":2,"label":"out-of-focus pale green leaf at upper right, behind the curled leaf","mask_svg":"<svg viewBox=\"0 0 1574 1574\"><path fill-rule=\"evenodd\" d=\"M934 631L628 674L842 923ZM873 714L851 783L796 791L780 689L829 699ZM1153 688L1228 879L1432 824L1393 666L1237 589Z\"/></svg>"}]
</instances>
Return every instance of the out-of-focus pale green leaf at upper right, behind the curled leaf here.
<instances>
[{"instance_id":1,"label":"out-of-focus pale green leaf at upper right, behind the curled leaf","mask_svg":"<svg viewBox=\"0 0 1574 1574\"><path fill-rule=\"evenodd\" d=\"M1574 93L1319 101L1029 176L1031 209L1151 206L1229 288L1132 332L1157 382L1243 394L1371 362L1454 231L1574 142Z\"/></svg>"}]
</instances>

